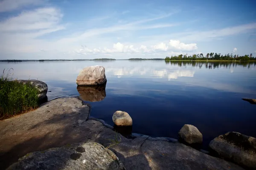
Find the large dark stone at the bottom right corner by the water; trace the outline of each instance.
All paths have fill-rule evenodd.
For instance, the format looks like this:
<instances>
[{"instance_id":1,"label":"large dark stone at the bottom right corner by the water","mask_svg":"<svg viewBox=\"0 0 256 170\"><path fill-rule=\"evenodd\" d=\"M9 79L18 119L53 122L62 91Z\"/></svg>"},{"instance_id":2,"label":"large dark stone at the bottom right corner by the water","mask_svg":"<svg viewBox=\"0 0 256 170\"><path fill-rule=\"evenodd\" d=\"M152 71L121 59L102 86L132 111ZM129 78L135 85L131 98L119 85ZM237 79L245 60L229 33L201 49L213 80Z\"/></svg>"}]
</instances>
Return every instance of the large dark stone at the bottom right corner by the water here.
<instances>
[{"instance_id":1,"label":"large dark stone at the bottom right corner by the water","mask_svg":"<svg viewBox=\"0 0 256 170\"><path fill-rule=\"evenodd\" d=\"M256 139L251 136L228 132L213 139L209 147L222 158L256 168Z\"/></svg>"}]
</instances>

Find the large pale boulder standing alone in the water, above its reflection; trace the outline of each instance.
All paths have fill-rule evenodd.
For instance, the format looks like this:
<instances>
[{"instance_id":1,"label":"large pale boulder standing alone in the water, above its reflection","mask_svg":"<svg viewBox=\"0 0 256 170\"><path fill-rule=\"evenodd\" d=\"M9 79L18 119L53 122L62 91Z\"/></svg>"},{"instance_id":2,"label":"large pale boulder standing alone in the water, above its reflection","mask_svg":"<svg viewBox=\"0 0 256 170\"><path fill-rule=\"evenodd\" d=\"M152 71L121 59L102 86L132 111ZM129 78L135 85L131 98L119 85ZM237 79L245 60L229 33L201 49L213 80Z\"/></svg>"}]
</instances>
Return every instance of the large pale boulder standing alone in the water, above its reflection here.
<instances>
[{"instance_id":1,"label":"large pale boulder standing alone in the water, above its reflection","mask_svg":"<svg viewBox=\"0 0 256 170\"><path fill-rule=\"evenodd\" d=\"M101 85L106 82L105 68L100 65L84 68L76 79L77 85Z\"/></svg>"}]
</instances>

